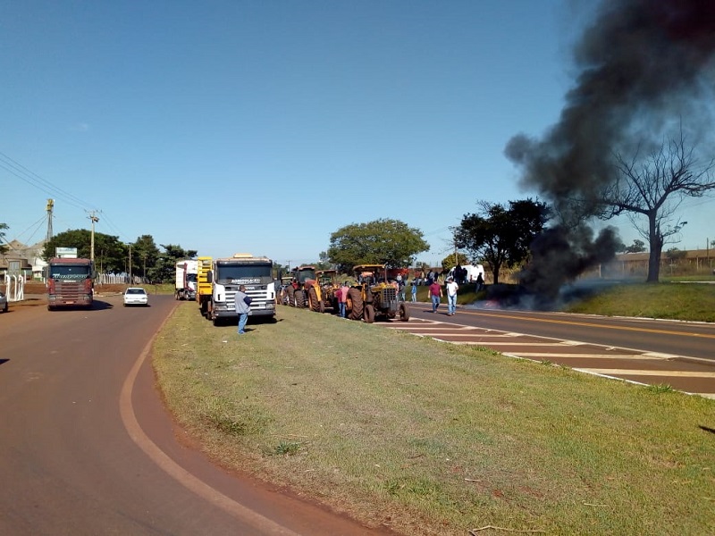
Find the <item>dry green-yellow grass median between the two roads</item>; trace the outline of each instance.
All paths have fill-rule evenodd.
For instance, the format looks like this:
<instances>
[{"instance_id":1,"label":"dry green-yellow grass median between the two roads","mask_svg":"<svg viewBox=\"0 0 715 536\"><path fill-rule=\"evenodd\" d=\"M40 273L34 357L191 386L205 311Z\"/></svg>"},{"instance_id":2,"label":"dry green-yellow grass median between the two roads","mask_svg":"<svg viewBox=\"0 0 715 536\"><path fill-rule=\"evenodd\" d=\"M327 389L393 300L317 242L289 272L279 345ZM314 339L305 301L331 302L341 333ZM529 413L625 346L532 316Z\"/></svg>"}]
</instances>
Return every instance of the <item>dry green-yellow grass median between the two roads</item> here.
<instances>
[{"instance_id":1,"label":"dry green-yellow grass median between the two roads","mask_svg":"<svg viewBox=\"0 0 715 536\"><path fill-rule=\"evenodd\" d=\"M206 452L368 525L466 534L715 532L715 402L327 314L156 339L167 405Z\"/></svg>"}]
</instances>

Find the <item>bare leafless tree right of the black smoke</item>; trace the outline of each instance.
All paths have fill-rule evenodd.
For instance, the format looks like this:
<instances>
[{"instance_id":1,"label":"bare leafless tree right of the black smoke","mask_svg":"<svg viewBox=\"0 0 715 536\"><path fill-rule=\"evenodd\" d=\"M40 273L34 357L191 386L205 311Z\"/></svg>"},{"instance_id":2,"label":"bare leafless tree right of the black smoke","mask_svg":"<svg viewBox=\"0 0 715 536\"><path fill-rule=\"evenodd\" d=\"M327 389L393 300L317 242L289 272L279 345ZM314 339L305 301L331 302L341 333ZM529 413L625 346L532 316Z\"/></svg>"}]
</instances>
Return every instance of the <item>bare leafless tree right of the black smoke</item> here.
<instances>
[{"instance_id":1,"label":"bare leafless tree right of the black smoke","mask_svg":"<svg viewBox=\"0 0 715 536\"><path fill-rule=\"evenodd\" d=\"M629 161L623 155L616 156L618 176L605 189L607 208L603 216L627 215L650 245L646 281L658 282L663 246L677 242L687 223L677 216L677 209L686 197L702 197L715 189L715 160L700 167L694 147L686 144L682 130L679 137L663 142L645 158L638 153ZM647 227L638 221L641 216L647 218Z\"/></svg>"}]
</instances>

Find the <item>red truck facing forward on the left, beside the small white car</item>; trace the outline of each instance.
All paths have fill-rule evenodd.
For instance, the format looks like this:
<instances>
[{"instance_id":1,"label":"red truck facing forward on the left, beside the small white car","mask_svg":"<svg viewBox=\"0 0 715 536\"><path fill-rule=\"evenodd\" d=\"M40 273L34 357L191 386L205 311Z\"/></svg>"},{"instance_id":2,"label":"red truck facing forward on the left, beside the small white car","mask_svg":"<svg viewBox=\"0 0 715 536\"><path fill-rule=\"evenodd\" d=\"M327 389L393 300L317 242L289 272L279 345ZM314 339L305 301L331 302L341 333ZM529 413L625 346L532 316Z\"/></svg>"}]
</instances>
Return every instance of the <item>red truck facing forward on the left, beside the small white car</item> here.
<instances>
[{"instance_id":1,"label":"red truck facing forward on the left, beside the small white car","mask_svg":"<svg viewBox=\"0 0 715 536\"><path fill-rule=\"evenodd\" d=\"M94 263L89 259L55 257L46 267L47 309L81 306L94 300Z\"/></svg>"}]
</instances>

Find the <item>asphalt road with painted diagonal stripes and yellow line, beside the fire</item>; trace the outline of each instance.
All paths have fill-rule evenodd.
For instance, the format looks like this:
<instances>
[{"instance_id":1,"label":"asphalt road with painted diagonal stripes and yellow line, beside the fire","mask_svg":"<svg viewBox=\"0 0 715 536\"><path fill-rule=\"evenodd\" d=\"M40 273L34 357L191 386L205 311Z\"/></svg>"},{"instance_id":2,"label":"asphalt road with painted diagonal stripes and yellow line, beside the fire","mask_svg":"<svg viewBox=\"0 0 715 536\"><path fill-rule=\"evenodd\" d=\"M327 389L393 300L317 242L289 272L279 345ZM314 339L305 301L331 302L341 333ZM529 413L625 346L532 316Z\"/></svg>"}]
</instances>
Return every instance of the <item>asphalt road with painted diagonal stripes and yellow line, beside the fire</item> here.
<instances>
[{"instance_id":1,"label":"asphalt road with painted diagonal stripes and yellow line, beside the fire","mask_svg":"<svg viewBox=\"0 0 715 536\"><path fill-rule=\"evenodd\" d=\"M453 344L492 348L585 373L669 385L715 398L715 325L585 314L459 307L447 316L410 304L410 322L383 325Z\"/></svg>"}]
</instances>

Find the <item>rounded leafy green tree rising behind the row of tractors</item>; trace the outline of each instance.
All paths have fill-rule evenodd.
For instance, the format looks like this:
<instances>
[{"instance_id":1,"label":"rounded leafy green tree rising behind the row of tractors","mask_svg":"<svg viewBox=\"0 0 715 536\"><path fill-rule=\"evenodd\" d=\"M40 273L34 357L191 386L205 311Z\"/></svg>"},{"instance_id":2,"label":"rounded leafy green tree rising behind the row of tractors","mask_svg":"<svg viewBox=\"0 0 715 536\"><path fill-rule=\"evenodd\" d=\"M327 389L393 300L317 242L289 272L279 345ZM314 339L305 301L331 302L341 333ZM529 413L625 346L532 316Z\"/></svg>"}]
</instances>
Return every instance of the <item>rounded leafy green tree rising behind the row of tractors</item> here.
<instances>
[{"instance_id":1,"label":"rounded leafy green tree rising behind the row of tractors","mask_svg":"<svg viewBox=\"0 0 715 536\"><path fill-rule=\"evenodd\" d=\"M398 220L381 219L352 223L336 230L330 237L327 253L340 272L350 272L356 264L409 266L415 255L428 249L421 230Z\"/></svg>"}]
</instances>

